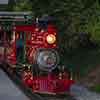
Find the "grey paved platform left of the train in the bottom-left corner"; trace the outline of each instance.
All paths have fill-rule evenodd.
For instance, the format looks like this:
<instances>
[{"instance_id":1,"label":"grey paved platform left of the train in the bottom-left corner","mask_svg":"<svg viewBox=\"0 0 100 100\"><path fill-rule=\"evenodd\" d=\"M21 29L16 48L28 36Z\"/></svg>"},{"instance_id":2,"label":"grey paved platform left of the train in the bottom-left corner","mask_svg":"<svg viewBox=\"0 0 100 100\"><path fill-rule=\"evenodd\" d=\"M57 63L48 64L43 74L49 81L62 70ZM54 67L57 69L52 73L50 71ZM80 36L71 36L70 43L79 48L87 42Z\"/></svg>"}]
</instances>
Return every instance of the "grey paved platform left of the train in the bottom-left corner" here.
<instances>
[{"instance_id":1,"label":"grey paved platform left of the train in the bottom-left corner","mask_svg":"<svg viewBox=\"0 0 100 100\"><path fill-rule=\"evenodd\" d=\"M0 100L29 100L0 69Z\"/></svg>"}]
</instances>

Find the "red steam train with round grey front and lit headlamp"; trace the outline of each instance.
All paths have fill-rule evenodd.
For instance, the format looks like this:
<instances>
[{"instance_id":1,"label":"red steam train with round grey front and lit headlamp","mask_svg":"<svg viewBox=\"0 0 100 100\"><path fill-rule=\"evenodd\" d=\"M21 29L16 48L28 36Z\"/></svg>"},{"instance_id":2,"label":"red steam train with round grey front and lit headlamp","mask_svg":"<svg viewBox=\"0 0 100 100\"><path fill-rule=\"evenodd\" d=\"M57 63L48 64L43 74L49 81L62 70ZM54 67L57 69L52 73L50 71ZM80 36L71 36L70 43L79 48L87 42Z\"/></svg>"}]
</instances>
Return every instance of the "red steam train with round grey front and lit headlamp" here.
<instances>
[{"instance_id":1,"label":"red steam train with round grey front and lit headlamp","mask_svg":"<svg viewBox=\"0 0 100 100\"><path fill-rule=\"evenodd\" d=\"M24 85L36 93L62 94L74 83L65 66L59 65L57 29L50 21L12 25L4 33L1 62L17 73ZM11 34L10 39L7 35ZM3 56L2 56L3 55Z\"/></svg>"}]
</instances>

